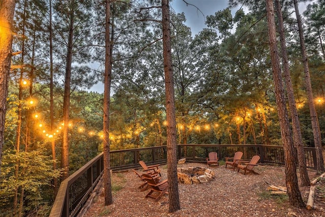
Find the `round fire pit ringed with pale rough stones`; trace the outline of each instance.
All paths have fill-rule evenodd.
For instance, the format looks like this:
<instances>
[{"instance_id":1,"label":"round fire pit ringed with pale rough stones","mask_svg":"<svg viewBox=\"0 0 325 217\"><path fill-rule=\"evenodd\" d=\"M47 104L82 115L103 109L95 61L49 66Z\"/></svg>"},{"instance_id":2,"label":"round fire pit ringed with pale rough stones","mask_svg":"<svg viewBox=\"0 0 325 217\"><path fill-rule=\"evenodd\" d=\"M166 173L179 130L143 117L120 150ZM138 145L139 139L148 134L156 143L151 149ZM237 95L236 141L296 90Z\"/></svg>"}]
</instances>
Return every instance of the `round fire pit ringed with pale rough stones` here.
<instances>
[{"instance_id":1,"label":"round fire pit ringed with pale rough stones","mask_svg":"<svg viewBox=\"0 0 325 217\"><path fill-rule=\"evenodd\" d=\"M205 167L177 168L178 181L182 184L207 183L214 176L214 172Z\"/></svg>"}]
</instances>

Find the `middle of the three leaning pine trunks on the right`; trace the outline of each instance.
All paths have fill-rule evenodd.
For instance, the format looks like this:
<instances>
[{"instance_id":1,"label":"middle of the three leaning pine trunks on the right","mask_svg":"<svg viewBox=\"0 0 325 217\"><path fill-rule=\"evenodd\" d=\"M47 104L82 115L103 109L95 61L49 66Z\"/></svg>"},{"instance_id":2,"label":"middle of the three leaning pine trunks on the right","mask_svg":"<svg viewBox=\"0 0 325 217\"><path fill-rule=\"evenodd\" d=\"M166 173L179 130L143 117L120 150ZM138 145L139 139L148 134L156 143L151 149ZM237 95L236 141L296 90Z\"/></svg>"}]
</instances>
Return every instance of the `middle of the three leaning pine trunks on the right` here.
<instances>
[{"instance_id":1,"label":"middle of the three leaning pine trunks on the right","mask_svg":"<svg viewBox=\"0 0 325 217\"><path fill-rule=\"evenodd\" d=\"M305 150L303 145L303 139L301 136L300 122L298 117L298 112L296 108L294 88L290 78L288 57L285 46L285 36L284 36L284 26L283 26L283 17L281 12L280 1L276 0L276 8L278 14L279 22L279 32L280 32L280 41L281 41L281 52L282 52L282 65L283 65L283 75L285 80L285 86L288 94L288 101L290 106L291 118L293 121L293 132L294 132L294 144L297 147L298 152L298 162L299 162L299 172L300 180L302 186L309 186L310 180L307 172Z\"/></svg>"}]
</instances>

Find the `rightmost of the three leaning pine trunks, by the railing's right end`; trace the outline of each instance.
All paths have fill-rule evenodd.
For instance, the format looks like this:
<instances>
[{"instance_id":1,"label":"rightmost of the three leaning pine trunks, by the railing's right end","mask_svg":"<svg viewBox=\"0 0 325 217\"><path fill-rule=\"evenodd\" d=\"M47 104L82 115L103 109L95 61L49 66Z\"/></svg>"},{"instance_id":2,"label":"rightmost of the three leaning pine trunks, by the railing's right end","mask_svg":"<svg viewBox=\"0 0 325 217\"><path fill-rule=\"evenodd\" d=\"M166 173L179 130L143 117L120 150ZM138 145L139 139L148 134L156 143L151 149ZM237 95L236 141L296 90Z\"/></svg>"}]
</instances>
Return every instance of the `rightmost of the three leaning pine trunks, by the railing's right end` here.
<instances>
[{"instance_id":1,"label":"rightmost of the three leaning pine trunks, by the railing's right end","mask_svg":"<svg viewBox=\"0 0 325 217\"><path fill-rule=\"evenodd\" d=\"M305 47L303 27L302 27L302 23L301 23L301 17L299 14L297 0L294 0L294 4L295 4L295 10L296 10L298 29L299 29L300 48L301 48L301 54L303 57L303 64L304 64L304 71L305 71L305 82L306 82L306 91L307 91L309 110L310 110L311 127L313 129L313 134L314 134L314 143L315 143L316 157L317 157L317 174L321 174L321 173L325 172L325 168L324 168L324 160L323 160L323 156L322 156L320 129L319 129L317 112L316 112L316 108L315 108L315 104L314 104L314 99L313 99L313 92L312 92L312 88L311 88L309 66L308 66L308 56L307 56L306 47Z\"/></svg>"}]
</instances>

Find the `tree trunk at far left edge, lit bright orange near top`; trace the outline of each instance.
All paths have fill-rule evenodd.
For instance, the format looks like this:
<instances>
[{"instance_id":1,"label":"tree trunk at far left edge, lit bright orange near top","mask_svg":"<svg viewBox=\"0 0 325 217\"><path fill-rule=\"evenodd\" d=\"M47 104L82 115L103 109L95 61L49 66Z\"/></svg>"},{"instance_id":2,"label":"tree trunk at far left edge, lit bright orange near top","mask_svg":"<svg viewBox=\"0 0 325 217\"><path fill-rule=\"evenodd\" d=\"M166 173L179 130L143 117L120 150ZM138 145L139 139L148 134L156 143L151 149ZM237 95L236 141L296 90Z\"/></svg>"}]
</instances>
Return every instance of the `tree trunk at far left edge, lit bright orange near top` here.
<instances>
[{"instance_id":1,"label":"tree trunk at far left edge, lit bright orange near top","mask_svg":"<svg viewBox=\"0 0 325 217\"><path fill-rule=\"evenodd\" d=\"M4 0L0 7L0 174L7 110L8 82L12 55L12 22L14 18L15 4L15 0Z\"/></svg>"}]
</instances>

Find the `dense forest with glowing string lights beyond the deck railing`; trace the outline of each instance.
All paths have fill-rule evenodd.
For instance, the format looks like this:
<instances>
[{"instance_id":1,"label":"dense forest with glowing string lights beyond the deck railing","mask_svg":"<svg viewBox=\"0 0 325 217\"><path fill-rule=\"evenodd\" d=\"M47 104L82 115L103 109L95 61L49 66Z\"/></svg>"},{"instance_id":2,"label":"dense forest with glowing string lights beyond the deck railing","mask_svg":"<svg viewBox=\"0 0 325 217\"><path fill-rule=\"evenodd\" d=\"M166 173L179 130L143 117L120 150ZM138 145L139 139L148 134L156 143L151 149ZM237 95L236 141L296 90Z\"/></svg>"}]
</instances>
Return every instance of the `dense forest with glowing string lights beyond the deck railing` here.
<instances>
[{"instance_id":1,"label":"dense forest with glowing string lights beyond the deck railing","mask_svg":"<svg viewBox=\"0 0 325 217\"><path fill-rule=\"evenodd\" d=\"M46 215L53 203L53 180L61 172L56 165L63 143L69 50L70 112L69 123L64 125L69 126L70 174L103 150L103 94L87 89L103 79L104 7L100 1L57 0L52 7L50 3L24 0L16 4L13 51L21 53L12 58L7 99L0 181L0 213L4 215L12 207L22 215ZM140 10L145 4L120 1L112 5L111 150L166 145L161 23L151 19L161 20L161 12L146 14ZM313 146L294 7L289 1L282 5L302 137L306 146ZM184 24L184 14L171 13L178 143L282 144L265 3L247 11L239 9L234 15L230 8L216 11L206 17L207 27L194 36ZM304 35L322 138L324 23L325 3L319 0L308 5ZM93 63L99 64L98 70L90 67Z\"/></svg>"}]
</instances>

